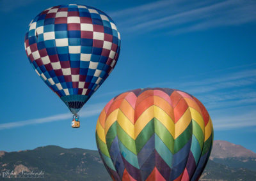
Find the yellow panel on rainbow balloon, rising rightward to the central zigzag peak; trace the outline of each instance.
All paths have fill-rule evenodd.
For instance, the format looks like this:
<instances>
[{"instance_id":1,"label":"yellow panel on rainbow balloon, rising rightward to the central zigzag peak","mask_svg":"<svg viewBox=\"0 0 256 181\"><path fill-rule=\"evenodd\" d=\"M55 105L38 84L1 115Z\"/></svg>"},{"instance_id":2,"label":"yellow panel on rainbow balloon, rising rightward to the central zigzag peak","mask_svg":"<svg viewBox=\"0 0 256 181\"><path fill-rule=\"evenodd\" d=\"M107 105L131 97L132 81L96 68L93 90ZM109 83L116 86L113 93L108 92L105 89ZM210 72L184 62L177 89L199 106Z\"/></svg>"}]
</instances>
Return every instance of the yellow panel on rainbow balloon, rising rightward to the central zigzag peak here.
<instances>
[{"instance_id":1,"label":"yellow panel on rainbow balloon, rising rightward to the central zigzag peak","mask_svg":"<svg viewBox=\"0 0 256 181\"><path fill-rule=\"evenodd\" d=\"M135 110L136 112L136 110ZM135 139L140 134L141 130L154 118L154 105L150 106L141 113L140 117L137 119L134 125L134 136Z\"/></svg>"}]
</instances>

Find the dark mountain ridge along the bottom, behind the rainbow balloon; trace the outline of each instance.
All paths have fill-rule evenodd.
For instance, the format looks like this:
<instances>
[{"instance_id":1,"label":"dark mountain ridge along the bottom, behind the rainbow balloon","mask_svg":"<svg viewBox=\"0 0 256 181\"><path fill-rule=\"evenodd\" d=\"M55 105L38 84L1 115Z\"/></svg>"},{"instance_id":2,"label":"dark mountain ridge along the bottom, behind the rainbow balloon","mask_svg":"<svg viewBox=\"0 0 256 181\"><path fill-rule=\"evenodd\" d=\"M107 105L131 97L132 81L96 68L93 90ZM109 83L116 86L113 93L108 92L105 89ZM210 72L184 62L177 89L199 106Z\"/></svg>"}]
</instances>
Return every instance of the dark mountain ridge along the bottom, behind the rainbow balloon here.
<instances>
[{"instance_id":1,"label":"dark mountain ridge along the bottom, behind the rainbow balloon","mask_svg":"<svg viewBox=\"0 0 256 181\"><path fill-rule=\"evenodd\" d=\"M220 141L217 141L218 143ZM223 152L230 150L233 143L225 143L219 148L214 146L212 156L218 149ZM216 145L216 144L215 144ZM226 147L227 145L227 147ZM234 146L237 148L237 146ZM239 146L239 150L241 151ZM242 151L248 152L244 148ZM227 154L225 152L225 154ZM254 152L253 152L254 153ZM212 157L209 159L204 173L200 180L253 180L256 178L256 159L243 156L241 152L238 157ZM225 156L225 155L224 155ZM246 159L249 161L246 162ZM251 160L252 159L252 160ZM41 180L111 180L108 172L104 168L97 150L87 150L83 148L62 148L56 145L46 145L36 147L33 150L19 150L18 152L0 152L0 175L4 171L13 171L15 177L21 178L22 173L34 171L44 173ZM2 176L1 175L1 176ZM8 175L1 180L10 180ZM26 178L35 180L35 178Z\"/></svg>"}]
</instances>

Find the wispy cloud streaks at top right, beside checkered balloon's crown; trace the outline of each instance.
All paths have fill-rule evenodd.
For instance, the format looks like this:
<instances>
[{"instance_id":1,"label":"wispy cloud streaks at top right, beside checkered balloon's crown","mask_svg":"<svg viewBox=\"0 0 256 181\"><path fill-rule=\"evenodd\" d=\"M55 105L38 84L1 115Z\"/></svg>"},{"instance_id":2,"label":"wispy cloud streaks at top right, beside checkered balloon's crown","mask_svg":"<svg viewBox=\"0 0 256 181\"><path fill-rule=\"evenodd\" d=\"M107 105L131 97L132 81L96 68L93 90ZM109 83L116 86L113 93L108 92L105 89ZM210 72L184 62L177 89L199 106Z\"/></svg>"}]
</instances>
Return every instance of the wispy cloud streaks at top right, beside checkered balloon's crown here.
<instances>
[{"instance_id":1,"label":"wispy cloud streaks at top right, beside checkered balloon's crown","mask_svg":"<svg viewBox=\"0 0 256 181\"><path fill-rule=\"evenodd\" d=\"M157 1L112 13L125 32L170 34L256 22L256 1Z\"/></svg>"}]
</instances>

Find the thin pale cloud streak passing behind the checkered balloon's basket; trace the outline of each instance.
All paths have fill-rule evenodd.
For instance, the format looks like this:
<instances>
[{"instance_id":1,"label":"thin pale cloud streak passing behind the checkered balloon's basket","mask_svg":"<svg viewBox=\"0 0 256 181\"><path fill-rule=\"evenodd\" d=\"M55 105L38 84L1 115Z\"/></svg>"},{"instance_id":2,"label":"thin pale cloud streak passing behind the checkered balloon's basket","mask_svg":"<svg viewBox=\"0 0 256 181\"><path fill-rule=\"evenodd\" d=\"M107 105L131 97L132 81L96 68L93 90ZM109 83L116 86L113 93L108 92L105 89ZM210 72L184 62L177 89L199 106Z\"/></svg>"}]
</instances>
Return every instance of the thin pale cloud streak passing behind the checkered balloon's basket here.
<instances>
[{"instance_id":1,"label":"thin pale cloud streak passing behind the checkered balloon's basket","mask_svg":"<svg viewBox=\"0 0 256 181\"><path fill-rule=\"evenodd\" d=\"M90 106L86 107L82 112L80 112L79 115L82 117L92 117L93 115L98 115L102 111L102 108L104 107L104 105L106 105L106 104L98 103L95 105L90 105ZM1 129L11 129L13 127L28 126L28 125L32 125L32 124L43 124L43 123L47 123L47 122L56 122L56 121L71 119L71 118L72 118L71 113L63 113L63 114L52 115L49 117L43 117L43 118L38 118L38 119L29 119L29 120L22 120L22 121L17 121L17 122L8 122L8 123L0 124L0 130Z\"/></svg>"}]
</instances>

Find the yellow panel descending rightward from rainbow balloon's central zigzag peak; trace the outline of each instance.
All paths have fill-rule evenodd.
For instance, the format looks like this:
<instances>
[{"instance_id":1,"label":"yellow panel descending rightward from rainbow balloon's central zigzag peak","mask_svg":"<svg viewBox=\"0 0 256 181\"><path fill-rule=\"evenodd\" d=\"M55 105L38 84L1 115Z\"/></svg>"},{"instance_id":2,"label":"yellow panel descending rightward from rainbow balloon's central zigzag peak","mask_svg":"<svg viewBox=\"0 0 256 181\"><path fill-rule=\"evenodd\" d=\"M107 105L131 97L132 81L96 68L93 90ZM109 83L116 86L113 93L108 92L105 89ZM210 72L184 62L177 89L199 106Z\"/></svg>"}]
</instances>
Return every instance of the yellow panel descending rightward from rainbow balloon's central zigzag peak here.
<instances>
[{"instance_id":1,"label":"yellow panel descending rightward from rainbow balloon's central zigzag peak","mask_svg":"<svg viewBox=\"0 0 256 181\"><path fill-rule=\"evenodd\" d=\"M159 122L161 122L166 129L172 134L174 137L175 134L175 126L173 120L170 118L170 116L164 112L161 108L154 106L154 115Z\"/></svg>"}]
</instances>

